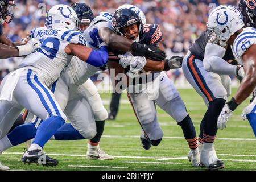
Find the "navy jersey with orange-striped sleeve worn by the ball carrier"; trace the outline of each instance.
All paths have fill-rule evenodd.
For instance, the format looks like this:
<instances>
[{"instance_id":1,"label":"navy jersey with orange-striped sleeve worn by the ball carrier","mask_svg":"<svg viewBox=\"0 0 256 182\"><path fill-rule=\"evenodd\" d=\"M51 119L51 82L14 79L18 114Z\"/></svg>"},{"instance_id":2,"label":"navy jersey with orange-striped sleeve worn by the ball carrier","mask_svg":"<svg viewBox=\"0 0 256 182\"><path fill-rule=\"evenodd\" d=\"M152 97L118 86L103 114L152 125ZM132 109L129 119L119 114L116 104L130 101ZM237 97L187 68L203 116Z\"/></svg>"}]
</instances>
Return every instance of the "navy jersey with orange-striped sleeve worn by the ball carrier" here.
<instances>
[{"instance_id":1,"label":"navy jersey with orange-striped sleeve worn by the ball carrier","mask_svg":"<svg viewBox=\"0 0 256 182\"><path fill-rule=\"evenodd\" d=\"M160 30L160 26L158 24L145 24L144 25L144 37L140 38L139 43L141 44L156 44L162 42L163 34ZM125 52L121 51L109 51L109 61L118 61L118 55L124 54Z\"/></svg>"}]
</instances>

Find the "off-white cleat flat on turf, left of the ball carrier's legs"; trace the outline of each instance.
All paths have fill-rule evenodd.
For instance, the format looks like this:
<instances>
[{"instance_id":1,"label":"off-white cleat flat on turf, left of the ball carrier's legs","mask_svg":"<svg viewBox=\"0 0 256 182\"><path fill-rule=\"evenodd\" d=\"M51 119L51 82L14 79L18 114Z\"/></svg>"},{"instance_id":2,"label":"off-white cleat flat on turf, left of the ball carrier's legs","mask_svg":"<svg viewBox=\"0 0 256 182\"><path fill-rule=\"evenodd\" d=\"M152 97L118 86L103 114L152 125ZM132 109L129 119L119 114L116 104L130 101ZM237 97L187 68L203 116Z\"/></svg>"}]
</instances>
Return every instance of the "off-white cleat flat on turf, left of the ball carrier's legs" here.
<instances>
[{"instance_id":1,"label":"off-white cleat flat on turf, left of the ball carrier's legs","mask_svg":"<svg viewBox=\"0 0 256 182\"><path fill-rule=\"evenodd\" d=\"M106 154L98 144L97 146L92 146L91 144L87 144L87 152L86 158L89 160L113 160L114 157Z\"/></svg>"}]
</instances>

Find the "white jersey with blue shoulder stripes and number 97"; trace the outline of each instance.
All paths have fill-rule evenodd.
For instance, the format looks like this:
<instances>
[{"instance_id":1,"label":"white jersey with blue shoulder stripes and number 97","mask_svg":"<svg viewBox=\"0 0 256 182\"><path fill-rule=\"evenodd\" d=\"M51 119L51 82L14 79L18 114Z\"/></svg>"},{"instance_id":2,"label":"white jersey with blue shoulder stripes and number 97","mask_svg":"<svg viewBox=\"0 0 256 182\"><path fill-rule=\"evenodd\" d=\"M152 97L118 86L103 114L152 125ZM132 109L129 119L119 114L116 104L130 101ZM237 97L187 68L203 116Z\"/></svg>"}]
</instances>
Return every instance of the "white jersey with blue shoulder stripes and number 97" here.
<instances>
[{"instance_id":1,"label":"white jersey with blue shoulder stripes and number 97","mask_svg":"<svg viewBox=\"0 0 256 182\"><path fill-rule=\"evenodd\" d=\"M243 28L243 31L237 35L232 46L233 54L239 64L243 65L242 55L253 44L256 44L256 29L251 27Z\"/></svg>"}]
</instances>

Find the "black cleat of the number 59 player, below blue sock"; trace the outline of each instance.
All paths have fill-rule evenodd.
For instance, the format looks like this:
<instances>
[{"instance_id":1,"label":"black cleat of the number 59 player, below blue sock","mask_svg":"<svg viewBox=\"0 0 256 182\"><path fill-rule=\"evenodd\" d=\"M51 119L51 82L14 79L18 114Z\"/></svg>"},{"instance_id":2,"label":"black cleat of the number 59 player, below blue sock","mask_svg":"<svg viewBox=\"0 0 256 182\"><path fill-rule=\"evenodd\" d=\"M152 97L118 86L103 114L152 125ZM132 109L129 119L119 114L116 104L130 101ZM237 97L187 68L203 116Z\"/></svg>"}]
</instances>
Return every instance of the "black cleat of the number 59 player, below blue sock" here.
<instances>
[{"instance_id":1,"label":"black cleat of the number 59 player, below blue sock","mask_svg":"<svg viewBox=\"0 0 256 182\"><path fill-rule=\"evenodd\" d=\"M28 163L35 163L40 164L43 166L57 166L59 164L59 161L53 158L50 158L46 154L44 154L41 150L31 150L31 151L24 151L24 154L22 156L22 162L24 164Z\"/></svg>"}]
</instances>

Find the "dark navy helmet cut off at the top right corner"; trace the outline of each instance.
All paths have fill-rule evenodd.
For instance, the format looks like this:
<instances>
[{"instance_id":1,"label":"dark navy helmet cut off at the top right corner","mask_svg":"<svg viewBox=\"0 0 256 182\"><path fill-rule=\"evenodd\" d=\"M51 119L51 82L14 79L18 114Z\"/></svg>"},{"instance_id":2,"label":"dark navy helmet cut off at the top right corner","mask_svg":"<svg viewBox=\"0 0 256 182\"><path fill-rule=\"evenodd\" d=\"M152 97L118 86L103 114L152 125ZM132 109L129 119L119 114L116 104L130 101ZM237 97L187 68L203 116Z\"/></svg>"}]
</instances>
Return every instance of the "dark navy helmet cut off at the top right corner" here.
<instances>
[{"instance_id":1,"label":"dark navy helmet cut off at the top right corner","mask_svg":"<svg viewBox=\"0 0 256 182\"><path fill-rule=\"evenodd\" d=\"M238 9L243 15L243 22L245 22L245 26L256 28L256 2L240 0Z\"/></svg>"}]
</instances>

